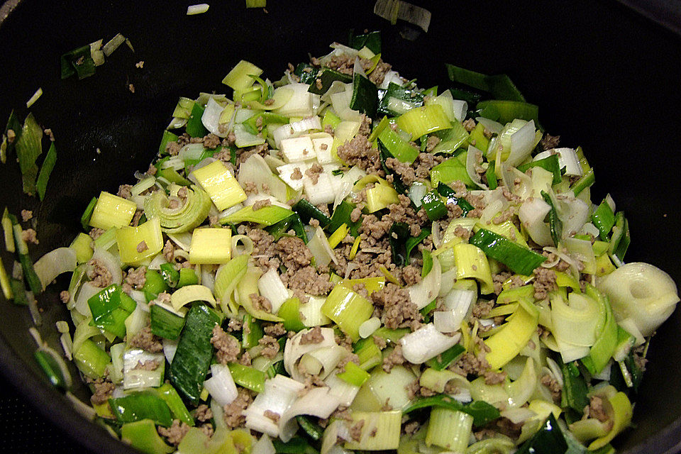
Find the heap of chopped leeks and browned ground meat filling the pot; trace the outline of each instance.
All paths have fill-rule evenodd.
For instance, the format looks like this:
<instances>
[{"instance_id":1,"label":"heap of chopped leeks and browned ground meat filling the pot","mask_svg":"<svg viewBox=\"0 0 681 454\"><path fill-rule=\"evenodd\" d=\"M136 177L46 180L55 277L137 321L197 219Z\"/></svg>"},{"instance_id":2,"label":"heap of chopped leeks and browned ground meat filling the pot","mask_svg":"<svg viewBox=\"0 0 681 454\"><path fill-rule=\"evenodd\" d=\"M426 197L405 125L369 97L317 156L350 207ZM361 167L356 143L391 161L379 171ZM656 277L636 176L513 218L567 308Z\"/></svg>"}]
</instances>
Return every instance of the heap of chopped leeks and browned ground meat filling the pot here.
<instances>
[{"instance_id":1,"label":"heap of chopped leeks and browned ground meat filling the pot","mask_svg":"<svg viewBox=\"0 0 681 454\"><path fill-rule=\"evenodd\" d=\"M73 272L92 416L150 454L611 453L675 283L625 264L624 212L508 77L423 89L350 45L181 98L34 266L5 216L13 289Z\"/></svg>"}]
</instances>

